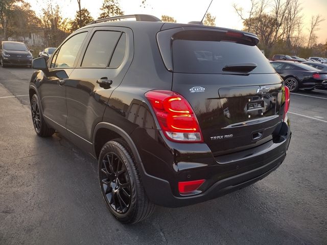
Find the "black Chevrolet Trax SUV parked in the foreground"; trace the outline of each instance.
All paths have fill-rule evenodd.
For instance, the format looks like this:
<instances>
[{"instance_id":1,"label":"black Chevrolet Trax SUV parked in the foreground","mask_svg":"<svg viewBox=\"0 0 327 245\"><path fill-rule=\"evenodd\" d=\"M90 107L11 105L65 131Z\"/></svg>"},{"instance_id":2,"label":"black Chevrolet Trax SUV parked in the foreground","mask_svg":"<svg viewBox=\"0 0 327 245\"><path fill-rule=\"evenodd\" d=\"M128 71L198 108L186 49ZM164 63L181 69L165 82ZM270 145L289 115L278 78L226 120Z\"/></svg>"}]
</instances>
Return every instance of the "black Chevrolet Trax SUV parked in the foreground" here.
<instances>
[{"instance_id":1,"label":"black Chevrolet Trax SUV parked in the foreground","mask_svg":"<svg viewBox=\"0 0 327 245\"><path fill-rule=\"evenodd\" d=\"M109 21L127 17L136 21ZM91 22L48 64L33 60L35 131L98 159L104 200L124 223L248 186L283 162L291 138L289 91L258 41L150 15Z\"/></svg>"}]
</instances>

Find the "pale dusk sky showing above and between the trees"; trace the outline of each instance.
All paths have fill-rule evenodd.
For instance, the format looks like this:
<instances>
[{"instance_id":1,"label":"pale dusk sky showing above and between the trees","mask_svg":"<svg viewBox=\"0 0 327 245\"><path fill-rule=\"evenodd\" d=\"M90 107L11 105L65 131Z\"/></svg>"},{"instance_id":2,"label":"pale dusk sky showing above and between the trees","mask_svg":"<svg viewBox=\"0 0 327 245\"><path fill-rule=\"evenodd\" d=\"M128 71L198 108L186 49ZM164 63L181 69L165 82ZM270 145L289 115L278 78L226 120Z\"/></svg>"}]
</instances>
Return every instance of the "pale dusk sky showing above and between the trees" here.
<instances>
[{"instance_id":1,"label":"pale dusk sky showing above and between the trees","mask_svg":"<svg viewBox=\"0 0 327 245\"><path fill-rule=\"evenodd\" d=\"M120 6L125 14L152 14L157 17L169 15L174 17L177 22L187 23L192 20L201 20L207 6L211 0L147 0L146 8L140 7L142 0L120 0ZM40 13L42 8L46 8L46 1L27 0L32 5L36 13ZM52 0L61 6L64 17L74 18L78 10L77 0ZM308 28L312 15L320 14L325 20L320 23L320 30L316 32L318 41L327 41L327 0L302 0L301 7L304 27L303 34L308 34ZM81 7L88 9L91 16L99 17L100 7L103 0L81 0ZM199 4L200 3L200 4ZM216 16L216 26L241 30L243 24L236 14L232 5L237 4L246 11L250 7L250 0L214 0L208 12Z\"/></svg>"}]
</instances>

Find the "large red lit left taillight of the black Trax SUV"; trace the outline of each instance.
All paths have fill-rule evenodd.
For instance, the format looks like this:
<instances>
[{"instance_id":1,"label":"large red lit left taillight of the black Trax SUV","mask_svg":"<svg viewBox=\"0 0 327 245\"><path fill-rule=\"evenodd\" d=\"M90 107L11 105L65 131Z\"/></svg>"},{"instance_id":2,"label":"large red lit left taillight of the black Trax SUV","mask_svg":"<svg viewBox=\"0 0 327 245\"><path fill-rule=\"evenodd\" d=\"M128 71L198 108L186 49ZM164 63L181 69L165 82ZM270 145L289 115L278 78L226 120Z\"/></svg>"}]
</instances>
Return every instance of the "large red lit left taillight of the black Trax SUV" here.
<instances>
[{"instance_id":1,"label":"large red lit left taillight of the black Trax SUV","mask_svg":"<svg viewBox=\"0 0 327 245\"><path fill-rule=\"evenodd\" d=\"M189 102L169 90L145 93L166 137L178 142L203 142L198 120Z\"/></svg>"}]
</instances>

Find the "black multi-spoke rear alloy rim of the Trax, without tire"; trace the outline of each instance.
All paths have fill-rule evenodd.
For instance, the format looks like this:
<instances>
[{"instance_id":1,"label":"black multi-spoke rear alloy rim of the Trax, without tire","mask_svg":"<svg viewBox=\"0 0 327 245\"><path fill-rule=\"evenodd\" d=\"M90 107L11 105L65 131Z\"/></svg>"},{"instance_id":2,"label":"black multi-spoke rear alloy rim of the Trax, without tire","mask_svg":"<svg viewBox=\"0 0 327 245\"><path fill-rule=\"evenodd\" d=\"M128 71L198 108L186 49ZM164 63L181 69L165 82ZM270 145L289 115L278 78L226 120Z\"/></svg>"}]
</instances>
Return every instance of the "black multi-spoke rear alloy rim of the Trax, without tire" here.
<instances>
[{"instance_id":1,"label":"black multi-spoke rear alloy rim of the Trax, without tire","mask_svg":"<svg viewBox=\"0 0 327 245\"><path fill-rule=\"evenodd\" d=\"M119 214L126 213L131 204L131 184L123 160L115 153L102 159L100 179L107 204Z\"/></svg>"}]
</instances>

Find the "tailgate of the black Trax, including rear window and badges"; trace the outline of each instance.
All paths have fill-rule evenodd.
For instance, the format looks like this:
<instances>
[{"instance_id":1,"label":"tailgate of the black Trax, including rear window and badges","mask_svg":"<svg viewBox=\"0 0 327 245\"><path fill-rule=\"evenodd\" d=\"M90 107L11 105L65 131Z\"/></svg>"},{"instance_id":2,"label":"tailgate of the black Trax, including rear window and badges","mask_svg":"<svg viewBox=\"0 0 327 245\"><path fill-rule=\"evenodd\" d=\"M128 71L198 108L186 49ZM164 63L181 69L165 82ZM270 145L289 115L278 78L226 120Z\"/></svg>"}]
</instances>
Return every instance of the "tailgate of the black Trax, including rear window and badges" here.
<instances>
[{"instance_id":1,"label":"tailgate of the black Trax, including rear window and badges","mask_svg":"<svg viewBox=\"0 0 327 245\"><path fill-rule=\"evenodd\" d=\"M283 80L251 38L190 30L171 40L172 90L190 102L214 155L272 139L283 120Z\"/></svg>"}]
</instances>

